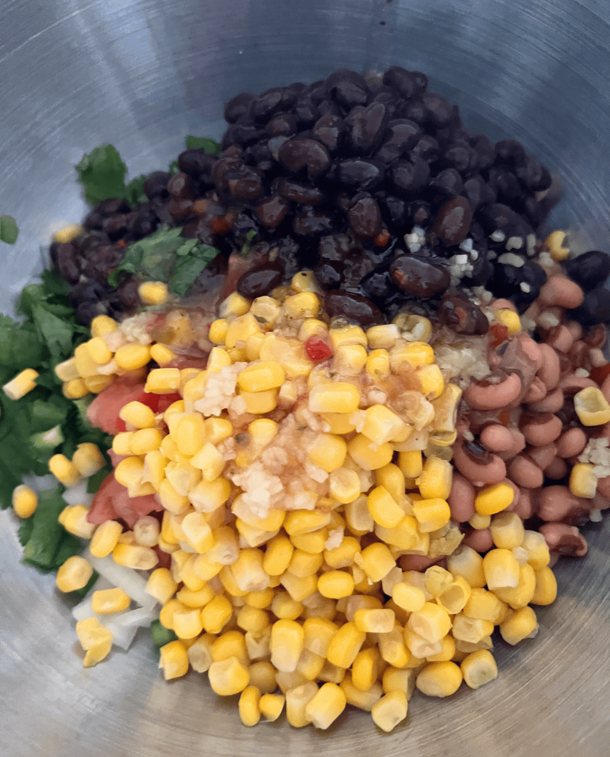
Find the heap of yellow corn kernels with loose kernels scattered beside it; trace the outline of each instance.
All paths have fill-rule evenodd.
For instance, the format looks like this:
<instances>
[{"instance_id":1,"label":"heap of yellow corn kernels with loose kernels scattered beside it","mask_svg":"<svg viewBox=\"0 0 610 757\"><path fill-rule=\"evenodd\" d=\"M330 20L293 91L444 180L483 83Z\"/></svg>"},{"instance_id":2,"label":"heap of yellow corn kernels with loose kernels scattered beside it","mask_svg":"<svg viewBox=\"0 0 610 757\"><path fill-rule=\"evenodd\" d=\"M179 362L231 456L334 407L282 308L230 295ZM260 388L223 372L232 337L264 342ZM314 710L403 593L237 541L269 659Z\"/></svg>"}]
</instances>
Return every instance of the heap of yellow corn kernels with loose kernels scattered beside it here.
<instances>
[{"instance_id":1,"label":"heap of yellow corn kernels with loose kernels scattered beside it","mask_svg":"<svg viewBox=\"0 0 610 757\"><path fill-rule=\"evenodd\" d=\"M161 367L148 373L146 391L182 396L156 416L125 405L127 431L113 443L123 457L117 481L130 497L155 495L164 513L161 525L145 516L127 533L117 522L89 524L86 507L67 507L61 522L91 539L92 555L151 571L146 591L177 636L161 647L164 678L207 672L215 693L239 693L248 726L285 709L293 727L324 729L351 704L391 731L415 687L444 697L462 681L477 688L496 678L496 626L511 644L536 633L530 605L556 593L549 550L506 511L506 484L477 494L474 519L495 548L482 557L460 546L446 448L461 390L436 363L427 319L402 313L367 332L329 324L303 273L271 294L252 303L231 294L209 329L207 368L188 376L163 367L163 345L113 350L105 337L116 325L95 319L92 339L58 366L67 385L86 386L99 366L141 369L152 358ZM332 356L312 360L311 338ZM275 475L281 450L296 491ZM52 459L52 472L68 486L94 467L82 457ZM257 471L267 475L258 488L249 478ZM24 511L33 506L19 496ZM153 547L170 554L169 569L157 567ZM446 557L447 568L405 571L400 558L409 555ZM82 558L70 560L62 590L91 575ZM95 612L127 607L120 590L95 594ZM86 665L110 650L101 628L77 626Z\"/></svg>"}]
</instances>

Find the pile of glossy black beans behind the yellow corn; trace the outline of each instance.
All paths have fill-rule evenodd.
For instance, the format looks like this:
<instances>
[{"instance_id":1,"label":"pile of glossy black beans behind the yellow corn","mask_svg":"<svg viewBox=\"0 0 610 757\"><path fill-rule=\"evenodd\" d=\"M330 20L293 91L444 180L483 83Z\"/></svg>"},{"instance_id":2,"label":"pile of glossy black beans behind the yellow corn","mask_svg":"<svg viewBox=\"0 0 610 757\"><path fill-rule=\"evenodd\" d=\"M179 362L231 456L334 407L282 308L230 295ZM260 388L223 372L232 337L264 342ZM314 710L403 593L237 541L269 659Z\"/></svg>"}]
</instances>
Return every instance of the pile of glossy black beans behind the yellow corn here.
<instances>
[{"instance_id":1,"label":"pile of glossy black beans behind the yellow corn","mask_svg":"<svg viewBox=\"0 0 610 757\"><path fill-rule=\"evenodd\" d=\"M460 288L447 294L456 255L471 264L461 288L484 286L521 313L546 281L535 232L549 171L515 140L493 145L471 135L458 107L428 91L423 73L393 66L372 80L341 69L309 86L242 92L224 117L220 157L184 151L180 173L150 174L148 201L137 210L103 201L86 217L83 237L53 245L83 322L133 312L136 282L113 289L106 279L125 245L161 223L221 250L189 294L209 291L246 245L259 268L268 263L274 285L278 272L288 281L314 269L333 292L329 315L363 325L411 305L455 313L466 302ZM414 227L421 245L405 245ZM254 294L252 280L242 279L242 294ZM576 314L587 326L610 319L608 299L598 300ZM483 328L476 313L467 320Z\"/></svg>"}]
</instances>

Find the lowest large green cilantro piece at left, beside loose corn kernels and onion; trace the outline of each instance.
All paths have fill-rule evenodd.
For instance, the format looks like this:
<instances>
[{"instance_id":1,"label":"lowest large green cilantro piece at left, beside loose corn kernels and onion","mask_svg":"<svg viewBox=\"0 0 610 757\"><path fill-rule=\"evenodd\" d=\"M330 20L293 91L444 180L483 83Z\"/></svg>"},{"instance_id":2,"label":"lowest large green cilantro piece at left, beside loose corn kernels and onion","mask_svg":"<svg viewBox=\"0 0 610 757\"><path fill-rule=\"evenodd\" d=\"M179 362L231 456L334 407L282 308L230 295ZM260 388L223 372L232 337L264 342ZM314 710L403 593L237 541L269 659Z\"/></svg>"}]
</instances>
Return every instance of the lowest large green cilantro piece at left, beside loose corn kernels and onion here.
<instances>
[{"instance_id":1,"label":"lowest large green cilantro piece at left, beside loose corn kernels and onion","mask_svg":"<svg viewBox=\"0 0 610 757\"><path fill-rule=\"evenodd\" d=\"M23 548L23 562L27 565L33 565L42 571L55 568L56 557L64 541L64 535L68 535L58 522L58 516L65 506L66 503L61 498L58 489L43 491L38 495L38 506L32 516L32 532ZM69 556L67 555L64 559Z\"/></svg>"}]
</instances>

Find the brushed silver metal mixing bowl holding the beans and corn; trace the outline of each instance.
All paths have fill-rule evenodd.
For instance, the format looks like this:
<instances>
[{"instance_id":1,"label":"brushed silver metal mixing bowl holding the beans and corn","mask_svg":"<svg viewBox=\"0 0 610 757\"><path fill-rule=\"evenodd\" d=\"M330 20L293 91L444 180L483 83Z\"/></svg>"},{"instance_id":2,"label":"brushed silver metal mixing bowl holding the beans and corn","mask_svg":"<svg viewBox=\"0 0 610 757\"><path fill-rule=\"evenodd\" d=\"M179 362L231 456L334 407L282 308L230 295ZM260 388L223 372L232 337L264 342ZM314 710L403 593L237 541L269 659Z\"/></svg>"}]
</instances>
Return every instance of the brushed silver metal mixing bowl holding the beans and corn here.
<instances>
[{"instance_id":1,"label":"brushed silver metal mixing bowl holding the beans and corn","mask_svg":"<svg viewBox=\"0 0 610 757\"><path fill-rule=\"evenodd\" d=\"M522 139L562 177L552 222L608 250L610 5L604 0L5 0L0 25L0 307L39 269L39 246L80 220L73 166L112 142L132 176L165 167L186 133L220 136L222 104L337 67L423 70L471 128ZM196 674L165 684L142 634L84 670L70 608L19 565L0 514L0 753L5 757L403 755L602 757L610 753L610 520L586 559L558 565L540 634L500 642L500 677L451 701L415 696L408 723L364 713L321 733L242 727Z\"/></svg>"}]
</instances>

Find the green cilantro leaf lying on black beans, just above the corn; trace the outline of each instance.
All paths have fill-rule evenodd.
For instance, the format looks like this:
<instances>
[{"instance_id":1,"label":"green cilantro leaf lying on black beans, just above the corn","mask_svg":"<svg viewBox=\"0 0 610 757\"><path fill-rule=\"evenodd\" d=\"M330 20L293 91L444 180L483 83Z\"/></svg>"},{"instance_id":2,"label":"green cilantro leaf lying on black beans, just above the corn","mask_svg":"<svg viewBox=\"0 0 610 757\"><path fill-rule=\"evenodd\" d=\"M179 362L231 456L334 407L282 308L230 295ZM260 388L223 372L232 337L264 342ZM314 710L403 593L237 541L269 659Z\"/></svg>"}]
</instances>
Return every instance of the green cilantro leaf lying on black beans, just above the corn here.
<instances>
[{"instance_id":1,"label":"green cilantro leaf lying on black beans, just above the corn","mask_svg":"<svg viewBox=\"0 0 610 757\"><path fill-rule=\"evenodd\" d=\"M173 255L184 243L182 229L161 226L154 234L133 242L125 251L123 260L108 276L108 284L118 286L121 273L137 273L140 279L167 282L170 276Z\"/></svg>"}]
</instances>

